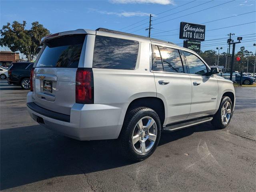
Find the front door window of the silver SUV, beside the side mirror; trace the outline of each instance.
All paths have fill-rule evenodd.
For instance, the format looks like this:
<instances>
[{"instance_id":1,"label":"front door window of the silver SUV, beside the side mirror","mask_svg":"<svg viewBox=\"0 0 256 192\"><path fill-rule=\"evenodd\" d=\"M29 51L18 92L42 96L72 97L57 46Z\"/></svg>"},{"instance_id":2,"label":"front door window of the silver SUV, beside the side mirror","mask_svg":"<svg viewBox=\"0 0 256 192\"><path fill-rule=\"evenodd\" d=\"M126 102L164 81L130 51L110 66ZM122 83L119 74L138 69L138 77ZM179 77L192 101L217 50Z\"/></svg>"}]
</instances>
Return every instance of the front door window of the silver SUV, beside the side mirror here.
<instances>
[{"instance_id":1,"label":"front door window of the silver SUV, beside the side mirror","mask_svg":"<svg viewBox=\"0 0 256 192\"><path fill-rule=\"evenodd\" d=\"M208 70L206 65L194 54L184 51L186 57L186 65L190 74L205 75Z\"/></svg>"}]
</instances>

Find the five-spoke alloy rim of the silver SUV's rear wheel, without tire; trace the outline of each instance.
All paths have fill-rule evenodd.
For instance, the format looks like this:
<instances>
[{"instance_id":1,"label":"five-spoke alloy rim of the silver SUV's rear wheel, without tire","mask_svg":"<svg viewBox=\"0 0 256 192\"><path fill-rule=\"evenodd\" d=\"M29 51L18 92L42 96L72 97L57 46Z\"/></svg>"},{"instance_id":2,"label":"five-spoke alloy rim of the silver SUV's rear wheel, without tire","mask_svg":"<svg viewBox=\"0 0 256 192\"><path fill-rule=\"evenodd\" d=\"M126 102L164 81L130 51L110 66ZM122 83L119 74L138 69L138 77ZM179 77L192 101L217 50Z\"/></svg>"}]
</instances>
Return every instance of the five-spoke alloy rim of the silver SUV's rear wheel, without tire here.
<instances>
[{"instance_id":1,"label":"five-spoke alloy rim of the silver SUV's rear wheel, without tire","mask_svg":"<svg viewBox=\"0 0 256 192\"><path fill-rule=\"evenodd\" d=\"M155 120L149 116L141 118L132 133L134 150L139 154L149 152L156 142L156 136L157 126Z\"/></svg>"}]
</instances>

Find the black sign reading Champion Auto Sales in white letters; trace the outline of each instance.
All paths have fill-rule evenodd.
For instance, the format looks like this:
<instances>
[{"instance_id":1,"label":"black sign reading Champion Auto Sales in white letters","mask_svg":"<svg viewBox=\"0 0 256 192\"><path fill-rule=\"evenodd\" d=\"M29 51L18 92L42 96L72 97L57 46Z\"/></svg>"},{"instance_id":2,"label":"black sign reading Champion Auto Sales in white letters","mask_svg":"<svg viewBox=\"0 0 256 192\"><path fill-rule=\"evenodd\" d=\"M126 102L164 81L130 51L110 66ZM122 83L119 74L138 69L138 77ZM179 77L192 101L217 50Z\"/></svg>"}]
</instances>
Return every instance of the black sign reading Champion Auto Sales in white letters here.
<instances>
[{"instance_id":1,"label":"black sign reading Champion Auto Sales in white letters","mask_svg":"<svg viewBox=\"0 0 256 192\"><path fill-rule=\"evenodd\" d=\"M204 41L205 25L180 22L180 39Z\"/></svg>"}]
</instances>

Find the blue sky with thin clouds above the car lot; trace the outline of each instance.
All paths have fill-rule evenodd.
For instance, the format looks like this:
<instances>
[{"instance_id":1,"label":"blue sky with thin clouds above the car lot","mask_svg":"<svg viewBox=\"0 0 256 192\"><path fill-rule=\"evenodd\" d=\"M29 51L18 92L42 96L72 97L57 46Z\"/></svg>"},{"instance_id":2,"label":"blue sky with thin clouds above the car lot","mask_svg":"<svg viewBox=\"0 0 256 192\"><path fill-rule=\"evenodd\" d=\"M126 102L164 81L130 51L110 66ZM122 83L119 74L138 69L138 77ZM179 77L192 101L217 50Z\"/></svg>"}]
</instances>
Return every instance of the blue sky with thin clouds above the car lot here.
<instances>
[{"instance_id":1,"label":"blue sky with thin clouds above the car lot","mask_svg":"<svg viewBox=\"0 0 256 192\"><path fill-rule=\"evenodd\" d=\"M201 24L231 17L206 23L205 40L227 38L226 34L231 32L235 33L235 36L243 36L236 51L240 46L245 46L255 52L256 47L252 45L256 43L256 1L230 1L232 0L0 0L0 24L2 28L7 22L26 20L27 28L31 27L32 22L38 21L51 33L103 27L147 36L148 31L145 28L148 26L149 14L153 14L155 16L152 17L152 37L182 46L183 40L177 35L179 30L175 30L179 28L181 21ZM219 4L223 5L216 6ZM212 6L216 7L210 8ZM200 11L206 8L210 9ZM194 13L197 11L200 12ZM161 12L164 13L159 14ZM251 13L245 14L248 12ZM184 16L186 14L190 15ZM132 25L136 22L138 23ZM224 28L244 23L250 24ZM129 25L132 26L127 27ZM223 29L214 30L217 28ZM172 31L163 32L167 30ZM234 39L236 40L236 37ZM222 51L226 52L225 43L226 39L205 41L201 44L201 50L223 47Z\"/></svg>"}]
</instances>

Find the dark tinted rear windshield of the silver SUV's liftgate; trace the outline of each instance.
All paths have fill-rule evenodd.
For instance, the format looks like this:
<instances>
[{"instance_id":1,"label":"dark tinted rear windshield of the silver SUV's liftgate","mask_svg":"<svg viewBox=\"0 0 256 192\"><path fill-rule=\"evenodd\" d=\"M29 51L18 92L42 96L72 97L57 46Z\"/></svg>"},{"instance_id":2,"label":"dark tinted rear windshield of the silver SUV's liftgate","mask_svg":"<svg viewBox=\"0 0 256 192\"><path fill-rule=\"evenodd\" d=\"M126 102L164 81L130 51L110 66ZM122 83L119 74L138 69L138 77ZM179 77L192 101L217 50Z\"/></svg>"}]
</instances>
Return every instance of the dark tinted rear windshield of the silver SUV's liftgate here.
<instances>
[{"instance_id":1,"label":"dark tinted rear windshield of the silver SUV's liftgate","mask_svg":"<svg viewBox=\"0 0 256 192\"><path fill-rule=\"evenodd\" d=\"M77 68L85 35L55 38L44 43L36 67Z\"/></svg>"}]
</instances>

